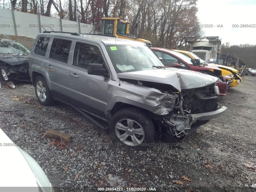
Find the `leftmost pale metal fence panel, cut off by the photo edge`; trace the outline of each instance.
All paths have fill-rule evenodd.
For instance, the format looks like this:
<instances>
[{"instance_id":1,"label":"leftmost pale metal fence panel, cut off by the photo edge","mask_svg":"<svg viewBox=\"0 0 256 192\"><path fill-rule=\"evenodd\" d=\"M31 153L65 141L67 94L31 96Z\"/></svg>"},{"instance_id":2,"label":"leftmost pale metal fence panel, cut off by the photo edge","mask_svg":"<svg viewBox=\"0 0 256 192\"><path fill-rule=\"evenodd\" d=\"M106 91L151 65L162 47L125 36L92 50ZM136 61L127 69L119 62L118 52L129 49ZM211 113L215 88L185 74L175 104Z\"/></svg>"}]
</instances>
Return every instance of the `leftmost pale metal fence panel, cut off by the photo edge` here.
<instances>
[{"instance_id":1,"label":"leftmost pale metal fence panel, cut off by the photo edge","mask_svg":"<svg viewBox=\"0 0 256 192\"><path fill-rule=\"evenodd\" d=\"M12 10L0 9L0 34L16 35Z\"/></svg>"}]
</instances>

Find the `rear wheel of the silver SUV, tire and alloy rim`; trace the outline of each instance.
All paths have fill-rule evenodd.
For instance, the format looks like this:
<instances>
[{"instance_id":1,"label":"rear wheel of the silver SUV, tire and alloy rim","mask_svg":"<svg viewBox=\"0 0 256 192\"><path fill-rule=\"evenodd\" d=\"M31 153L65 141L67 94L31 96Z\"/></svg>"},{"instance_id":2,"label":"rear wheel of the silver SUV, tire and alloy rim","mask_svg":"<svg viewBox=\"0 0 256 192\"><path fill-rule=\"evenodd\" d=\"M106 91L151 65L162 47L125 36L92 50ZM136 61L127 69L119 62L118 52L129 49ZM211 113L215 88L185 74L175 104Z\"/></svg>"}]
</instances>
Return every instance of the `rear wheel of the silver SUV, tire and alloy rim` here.
<instances>
[{"instance_id":1,"label":"rear wheel of the silver SUV, tire and alloy rim","mask_svg":"<svg viewBox=\"0 0 256 192\"><path fill-rule=\"evenodd\" d=\"M54 103L52 94L47 86L43 76L37 76L35 80L35 91L38 102L43 106L49 106Z\"/></svg>"}]
</instances>

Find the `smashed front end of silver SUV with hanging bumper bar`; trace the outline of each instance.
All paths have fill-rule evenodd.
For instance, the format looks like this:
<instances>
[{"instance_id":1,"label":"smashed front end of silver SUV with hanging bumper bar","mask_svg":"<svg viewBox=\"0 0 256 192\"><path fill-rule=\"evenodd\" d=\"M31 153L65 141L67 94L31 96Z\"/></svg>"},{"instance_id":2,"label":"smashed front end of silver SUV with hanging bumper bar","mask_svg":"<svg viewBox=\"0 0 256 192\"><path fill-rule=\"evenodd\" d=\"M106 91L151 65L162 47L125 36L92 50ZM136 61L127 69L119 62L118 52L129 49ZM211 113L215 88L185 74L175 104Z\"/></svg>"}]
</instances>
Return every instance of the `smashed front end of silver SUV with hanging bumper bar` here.
<instances>
[{"instance_id":1,"label":"smashed front end of silver SUV with hanging bumper bar","mask_svg":"<svg viewBox=\"0 0 256 192\"><path fill-rule=\"evenodd\" d=\"M168 142L194 132L226 110L226 107L218 106L220 97L216 84L182 90L177 99L178 102L172 112L163 116L159 124L160 135Z\"/></svg>"}]
</instances>

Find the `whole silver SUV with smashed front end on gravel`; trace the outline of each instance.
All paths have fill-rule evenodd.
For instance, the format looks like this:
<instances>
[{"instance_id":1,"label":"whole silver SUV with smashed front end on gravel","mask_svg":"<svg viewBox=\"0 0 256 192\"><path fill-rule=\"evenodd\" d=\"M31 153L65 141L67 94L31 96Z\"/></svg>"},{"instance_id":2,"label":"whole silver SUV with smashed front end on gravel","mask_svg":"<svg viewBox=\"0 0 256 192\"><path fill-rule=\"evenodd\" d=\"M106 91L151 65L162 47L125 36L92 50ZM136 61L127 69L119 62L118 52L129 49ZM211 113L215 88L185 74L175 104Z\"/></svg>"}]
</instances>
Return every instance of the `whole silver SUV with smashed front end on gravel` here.
<instances>
[{"instance_id":1,"label":"whole silver SUV with smashed front end on gravel","mask_svg":"<svg viewBox=\"0 0 256 192\"><path fill-rule=\"evenodd\" d=\"M132 40L44 32L32 47L29 73L40 104L64 102L137 149L152 145L156 133L176 142L226 110L218 106L217 78L166 68Z\"/></svg>"}]
</instances>

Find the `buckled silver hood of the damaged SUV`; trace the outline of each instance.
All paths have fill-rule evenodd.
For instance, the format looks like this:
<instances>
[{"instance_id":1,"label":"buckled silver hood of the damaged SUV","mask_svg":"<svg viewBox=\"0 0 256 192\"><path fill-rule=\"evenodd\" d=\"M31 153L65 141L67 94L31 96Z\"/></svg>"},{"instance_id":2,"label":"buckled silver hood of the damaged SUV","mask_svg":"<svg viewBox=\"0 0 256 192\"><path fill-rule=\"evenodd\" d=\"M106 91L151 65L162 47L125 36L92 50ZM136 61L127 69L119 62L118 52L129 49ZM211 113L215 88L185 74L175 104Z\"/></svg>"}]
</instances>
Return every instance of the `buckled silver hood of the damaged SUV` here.
<instances>
[{"instance_id":1,"label":"buckled silver hood of the damaged SUV","mask_svg":"<svg viewBox=\"0 0 256 192\"><path fill-rule=\"evenodd\" d=\"M218 78L214 76L176 68L125 72L119 73L117 76L124 79L170 84L179 91L182 89L204 87L218 80Z\"/></svg>"}]
</instances>

